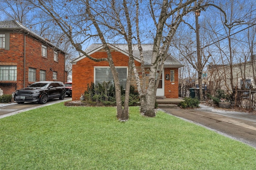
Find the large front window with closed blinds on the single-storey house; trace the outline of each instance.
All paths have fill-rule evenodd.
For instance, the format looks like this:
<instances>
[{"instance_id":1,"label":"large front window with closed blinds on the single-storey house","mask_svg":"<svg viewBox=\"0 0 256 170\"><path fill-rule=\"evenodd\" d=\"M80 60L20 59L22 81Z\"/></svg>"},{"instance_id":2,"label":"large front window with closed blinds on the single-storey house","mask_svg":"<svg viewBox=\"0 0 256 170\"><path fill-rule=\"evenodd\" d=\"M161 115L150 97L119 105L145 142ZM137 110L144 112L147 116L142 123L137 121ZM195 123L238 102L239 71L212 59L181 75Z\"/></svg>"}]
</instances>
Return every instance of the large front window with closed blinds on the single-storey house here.
<instances>
[{"instance_id":1,"label":"large front window with closed blinds on the single-storey house","mask_svg":"<svg viewBox=\"0 0 256 170\"><path fill-rule=\"evenodd\" d=\"M125 88L127 81L127 68L116 68L118 72L118 78L120 81L120 86ZM95 68L95 84L102 84L103 82L114 83L114 78L110 68Z\"/></svg>"}]
</instances>

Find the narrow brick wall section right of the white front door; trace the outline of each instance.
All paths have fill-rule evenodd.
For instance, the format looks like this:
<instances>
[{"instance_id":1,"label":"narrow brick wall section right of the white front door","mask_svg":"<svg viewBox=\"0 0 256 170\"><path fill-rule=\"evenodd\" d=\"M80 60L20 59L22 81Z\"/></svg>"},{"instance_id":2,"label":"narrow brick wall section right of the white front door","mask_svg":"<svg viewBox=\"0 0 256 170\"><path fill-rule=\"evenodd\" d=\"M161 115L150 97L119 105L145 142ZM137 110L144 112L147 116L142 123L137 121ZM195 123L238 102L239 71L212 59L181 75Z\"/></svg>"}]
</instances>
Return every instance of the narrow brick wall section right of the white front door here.
<instances>
[{"instance_id":1,"label":"narrow brick wall section right of the white front door","mask_svg":"<svg viewBox=\"0 0 256 170\"><path fill-rule=\"evenodd\" d=\"M174 82L170 82L170 80L164 80L164 96L166 96L166 98L178 98L179 97L178 68L164 68L164 74L170 75L170 70L174 70ZM163 78L165 78L165 75L163 76L164 76Z\"/></svg>"}]
</instances>

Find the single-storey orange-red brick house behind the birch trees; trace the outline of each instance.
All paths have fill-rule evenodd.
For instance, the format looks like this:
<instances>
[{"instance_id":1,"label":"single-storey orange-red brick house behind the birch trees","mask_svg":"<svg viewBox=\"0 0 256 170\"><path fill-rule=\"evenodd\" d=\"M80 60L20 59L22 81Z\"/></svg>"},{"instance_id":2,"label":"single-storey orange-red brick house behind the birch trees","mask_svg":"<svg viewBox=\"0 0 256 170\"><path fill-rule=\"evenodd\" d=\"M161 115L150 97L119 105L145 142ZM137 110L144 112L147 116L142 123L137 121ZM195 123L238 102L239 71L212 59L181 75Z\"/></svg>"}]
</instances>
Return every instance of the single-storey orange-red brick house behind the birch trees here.
<instances>
[{"instance_id":1,"label":"single-storey orange-red brick house behind the birch trees","mask_svg":"<svg viewBox=\"0 0 256 170\"><path fill-rule=\"evenodd\" d=\"M118 71L120 84L125 87L128 71L128 46L127 44L108 44L108 46L110 47L112 58ZM153 45L142 44L142 48L145 60L145 73L149 74ZM94 58L107 57L107 53L102 44L92 44L85 51L88 55ZM141 74L141 71L139 71L140 53L137 45L133 46L133 54L135 65L139 74ZM81 56L71 63L72 100L79 100L81 94L84 94L88 84L91 82L97 84L113 80L108 62L94 62L85 56ZM182 64L171 56L166 59L156 96L178 98L178 68L182 66ZM132 85L136 88L134 77L132 78Z\"/></svg>"}]
</instances>

